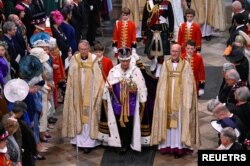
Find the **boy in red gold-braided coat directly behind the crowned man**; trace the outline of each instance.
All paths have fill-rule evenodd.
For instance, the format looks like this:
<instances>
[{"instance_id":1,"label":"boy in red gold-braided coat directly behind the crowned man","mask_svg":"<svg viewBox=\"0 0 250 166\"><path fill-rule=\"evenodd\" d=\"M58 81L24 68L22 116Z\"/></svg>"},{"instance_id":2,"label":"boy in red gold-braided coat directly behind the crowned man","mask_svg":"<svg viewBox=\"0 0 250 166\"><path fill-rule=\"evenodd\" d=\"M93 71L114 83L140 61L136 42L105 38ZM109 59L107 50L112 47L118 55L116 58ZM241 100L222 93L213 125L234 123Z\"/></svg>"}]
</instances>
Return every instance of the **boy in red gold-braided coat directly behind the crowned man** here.
<instances>
[{"instance_id":1,"label":"boy in red gold-braided coat directly behind the crowned man","mask_svg":"<svg viewBox=\"0 0 250 166\"><path fill-rule=\"evenodd\" d=\"M113 32L113 51L117 53L120 48L136 48L136 27L135 23L129 20L130 9L122 9L122 19L117 20ZM117 57L117 54L115 55Z\"/></svg>"}]
</instances>

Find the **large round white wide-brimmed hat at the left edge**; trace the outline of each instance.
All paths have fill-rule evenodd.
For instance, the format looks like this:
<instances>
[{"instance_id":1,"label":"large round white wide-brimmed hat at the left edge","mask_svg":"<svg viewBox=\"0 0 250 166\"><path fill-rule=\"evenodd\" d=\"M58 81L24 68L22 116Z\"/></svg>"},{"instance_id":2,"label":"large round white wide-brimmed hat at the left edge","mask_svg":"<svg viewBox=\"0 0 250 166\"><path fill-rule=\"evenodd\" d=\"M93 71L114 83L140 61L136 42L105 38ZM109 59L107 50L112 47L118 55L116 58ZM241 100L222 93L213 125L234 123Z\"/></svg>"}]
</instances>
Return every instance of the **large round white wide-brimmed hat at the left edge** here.
<instances>
[{"instance_id":1,"label":"large round white wide-brimmed hat at the left edge","mask_svg":"<svg viewBox=\"0 0 250 166\"><path fill-rule=\"evenodd\" d=\"M22 101L29 93L29 85L22 79L12 79L4 86L4 96L10 102Z\"/></svg>"}]
</instances>

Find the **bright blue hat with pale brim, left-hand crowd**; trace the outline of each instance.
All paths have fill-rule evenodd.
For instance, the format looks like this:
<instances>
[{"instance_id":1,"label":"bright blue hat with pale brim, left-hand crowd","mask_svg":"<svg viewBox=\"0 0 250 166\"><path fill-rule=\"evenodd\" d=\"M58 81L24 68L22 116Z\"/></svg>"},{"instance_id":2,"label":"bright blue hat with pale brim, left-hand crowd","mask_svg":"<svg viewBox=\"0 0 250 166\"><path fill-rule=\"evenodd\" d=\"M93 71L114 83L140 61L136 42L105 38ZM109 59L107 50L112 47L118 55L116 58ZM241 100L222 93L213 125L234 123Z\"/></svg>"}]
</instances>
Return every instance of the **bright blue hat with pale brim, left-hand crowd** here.
<instances>
[{"instance_id":1,"label":"bright blue hat with pale brim, left-hand crowd","mask_svg":"<svg viewBox=\"0 0 250 166\"><path fill-rule=\"evenodd\" d=\"M50 35L46 32L39 32L31 36L30 43L32 47L49 47Z\"/></svg>"}]
</instances>

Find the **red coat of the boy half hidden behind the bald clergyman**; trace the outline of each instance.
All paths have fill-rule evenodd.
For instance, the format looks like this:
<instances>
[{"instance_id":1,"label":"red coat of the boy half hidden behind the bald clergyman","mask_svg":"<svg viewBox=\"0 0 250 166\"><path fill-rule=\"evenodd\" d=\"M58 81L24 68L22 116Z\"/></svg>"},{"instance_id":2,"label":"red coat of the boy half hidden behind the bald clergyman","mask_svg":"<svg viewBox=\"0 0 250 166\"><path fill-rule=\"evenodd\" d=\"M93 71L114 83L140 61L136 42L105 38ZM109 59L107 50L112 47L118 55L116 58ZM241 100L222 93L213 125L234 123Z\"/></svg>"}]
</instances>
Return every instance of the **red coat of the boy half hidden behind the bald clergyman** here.
<instances>
[{"instance_id":1,"label":"red coat of the boy half hidden behind the bald clergyman","mask_svg":"<svg viewBox=\"0 0 250 166\"><path fill-rule=\"evenodd\" d=\"M205 86L205 69L204 69L204 63L202 56L198 53L194 53L194 55L188 59L187 54L182 54L182 58L187 60L193 70L195 83L196 83L196 89L197 92L200 88L204 89Z\"/></svg>"}]
</instances>

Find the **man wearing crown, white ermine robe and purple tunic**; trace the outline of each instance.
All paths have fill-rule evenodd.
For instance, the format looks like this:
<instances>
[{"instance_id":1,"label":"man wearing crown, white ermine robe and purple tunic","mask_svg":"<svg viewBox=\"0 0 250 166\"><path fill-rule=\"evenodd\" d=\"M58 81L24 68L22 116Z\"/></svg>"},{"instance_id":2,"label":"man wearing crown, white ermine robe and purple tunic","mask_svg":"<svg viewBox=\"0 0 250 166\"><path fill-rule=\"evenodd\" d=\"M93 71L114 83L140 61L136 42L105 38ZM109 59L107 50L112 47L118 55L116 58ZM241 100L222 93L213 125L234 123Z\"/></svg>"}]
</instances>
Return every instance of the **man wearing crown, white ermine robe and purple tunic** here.
<instances>
[{"instance_id":1,"label":"man wearing crown, white ermine robe and purple tunic","mask_svg":"<svg viewBox=\"0 0 250 166\"><path fill-rule=\"evenodd\" d=\"M99 138L109 146L120 147L121 153L130 147L141 151L140 127L147 88L140 69L130 65L131 49L119 49L118 59L120 64L110 70L103 95L109 134L99 133Z\"/></svg>"}]
</instances>

